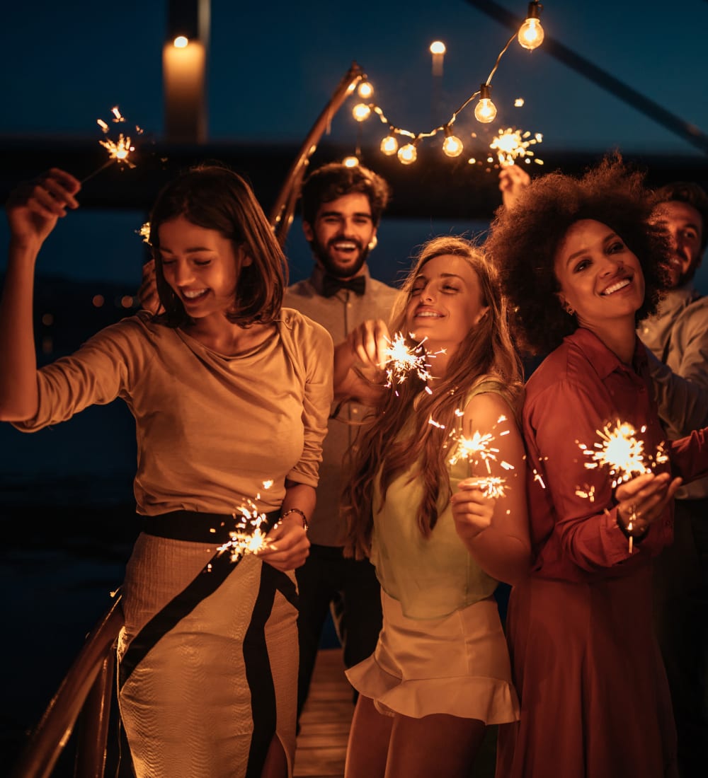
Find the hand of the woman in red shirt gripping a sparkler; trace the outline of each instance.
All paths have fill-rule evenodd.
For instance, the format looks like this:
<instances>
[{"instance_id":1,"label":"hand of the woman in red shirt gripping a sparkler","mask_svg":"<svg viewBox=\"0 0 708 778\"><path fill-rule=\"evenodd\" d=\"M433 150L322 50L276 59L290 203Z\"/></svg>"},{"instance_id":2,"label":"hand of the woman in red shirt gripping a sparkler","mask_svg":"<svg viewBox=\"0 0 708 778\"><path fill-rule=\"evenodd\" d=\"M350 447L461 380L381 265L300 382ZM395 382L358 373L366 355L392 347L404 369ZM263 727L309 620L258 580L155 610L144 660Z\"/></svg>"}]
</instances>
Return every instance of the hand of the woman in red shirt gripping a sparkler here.
<instances>
[{"instance_id":1,"label":"hand of the woman in red shirt gripping a sparkler","mask_svg":"<svg viewBox=\"0 0 708 778\"><path fill-rule=\"evenodd\" d=\"M681 484L682 479L671 478L670 473L644 473L618 485L615 498L619 527L632 538L642 537L664 513Z\"/></svg>"}]
</instances>

